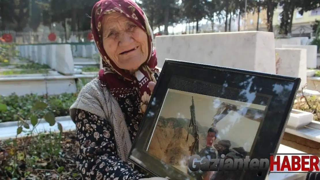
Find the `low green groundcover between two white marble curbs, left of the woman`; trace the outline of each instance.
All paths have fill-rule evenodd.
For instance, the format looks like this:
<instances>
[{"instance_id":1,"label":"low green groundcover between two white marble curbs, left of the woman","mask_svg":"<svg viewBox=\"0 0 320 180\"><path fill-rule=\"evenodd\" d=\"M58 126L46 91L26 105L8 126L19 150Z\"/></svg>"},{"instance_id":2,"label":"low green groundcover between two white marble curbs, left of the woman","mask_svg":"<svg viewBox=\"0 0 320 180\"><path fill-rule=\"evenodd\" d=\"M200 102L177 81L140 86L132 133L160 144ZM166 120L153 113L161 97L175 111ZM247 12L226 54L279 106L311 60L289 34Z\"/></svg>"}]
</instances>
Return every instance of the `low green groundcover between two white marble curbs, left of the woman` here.
<instances>
[{"instance_id":1,"label":"low green groundcover between two white marble curbs, left of the woman","mask_svg":"<svg viewBox=\"0 0 320 180\"><path fill-rule=\"evenodd\" d=\"M6 111L0 112L0 122L18 121L20 118L30 120L32 107L38 101L48 104L48 106L37 115L37 118L43 117L47 112L52 112L55 117L69 115L69 107L76 100L77 93L63 93L60 95L41 95L27 94L18 96L0 96L0 103L6 106Z\"/></svg>"}]
</instances>

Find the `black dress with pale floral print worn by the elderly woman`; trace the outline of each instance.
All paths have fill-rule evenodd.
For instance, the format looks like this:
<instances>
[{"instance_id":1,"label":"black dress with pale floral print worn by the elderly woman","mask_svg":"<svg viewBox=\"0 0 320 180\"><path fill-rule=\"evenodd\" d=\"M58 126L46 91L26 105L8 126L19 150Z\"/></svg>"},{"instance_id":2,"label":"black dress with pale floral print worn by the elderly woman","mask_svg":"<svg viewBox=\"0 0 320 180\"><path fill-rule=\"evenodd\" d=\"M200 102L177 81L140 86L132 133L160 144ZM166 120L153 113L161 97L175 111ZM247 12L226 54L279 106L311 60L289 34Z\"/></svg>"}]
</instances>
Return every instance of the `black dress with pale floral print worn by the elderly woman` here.
<instances>
[{"instance_id":1,"label":"black dress with pale floral print worn by the elderly woman","mask_svg":"<svg viewBox=\"0 0 320 180\"><path fill-rule=\"evenodd\" d=\"M156 80L157 73L154 74ZM132 139L137 135L143 114L140 114L140 96L127 95L119 99ZM117 155L115 135L111 124L90 112L76 109L77 169L84 180L135 180L146 177L141 169L132 168Z\"/></svg>"}]
</instances>

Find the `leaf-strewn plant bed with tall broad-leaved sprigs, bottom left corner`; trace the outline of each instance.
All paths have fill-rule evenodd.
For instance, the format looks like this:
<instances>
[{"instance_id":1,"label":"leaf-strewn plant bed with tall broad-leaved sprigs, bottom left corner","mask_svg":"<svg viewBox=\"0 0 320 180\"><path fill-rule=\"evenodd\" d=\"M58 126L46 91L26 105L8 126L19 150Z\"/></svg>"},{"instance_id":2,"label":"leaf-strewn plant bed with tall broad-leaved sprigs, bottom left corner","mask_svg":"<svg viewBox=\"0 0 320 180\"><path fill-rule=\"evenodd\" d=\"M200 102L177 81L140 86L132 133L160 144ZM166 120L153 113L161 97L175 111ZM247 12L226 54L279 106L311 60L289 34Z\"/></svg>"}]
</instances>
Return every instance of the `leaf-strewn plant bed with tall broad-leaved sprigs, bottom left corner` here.
<instances>
[{"instance_id":1,"label":"leaf-strewn plant bed with tall broad-leaved sprigs, bottom left corner","mask_svg":"<svg viewBox=\"0 0 320 180\"><path fill-rule=\"evenodd\" d=\"M19 118L17 135L14 139L0 140L0 179L80 179L75 164L76 142L74 133L63 133L62 125L55 121L51 111L42 118L50 126L58 125L59 132L39 133L35 135L39 125L37 117L48 109L48 104L37 101L26 119ZM0 104L0 112L8 107ZM24 136L18 137L21 133Z\"/></svg>"}]
</instances>

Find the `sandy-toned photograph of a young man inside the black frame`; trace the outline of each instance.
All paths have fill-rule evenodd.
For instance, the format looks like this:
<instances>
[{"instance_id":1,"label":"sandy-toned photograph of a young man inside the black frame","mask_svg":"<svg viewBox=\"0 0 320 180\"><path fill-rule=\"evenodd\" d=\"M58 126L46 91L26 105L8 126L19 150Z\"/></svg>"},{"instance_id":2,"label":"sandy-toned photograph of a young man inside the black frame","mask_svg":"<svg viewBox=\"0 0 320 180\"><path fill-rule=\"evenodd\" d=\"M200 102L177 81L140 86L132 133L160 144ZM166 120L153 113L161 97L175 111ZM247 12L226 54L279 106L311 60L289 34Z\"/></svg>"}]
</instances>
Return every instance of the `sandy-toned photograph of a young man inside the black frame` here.
<instances>
[{"instance_id":1,"label":"sandy-toned photograph of a young man inside the black frame","mask_svg":"<svg viewBox=\"0 0 320 180\"><path fill-rule=\"evenodd\" d=\"M250 153L266 106L169 89L147 152L192 179L215 179L191 172L191 155L242 158Z\"/></svg>"}]
</instances>

